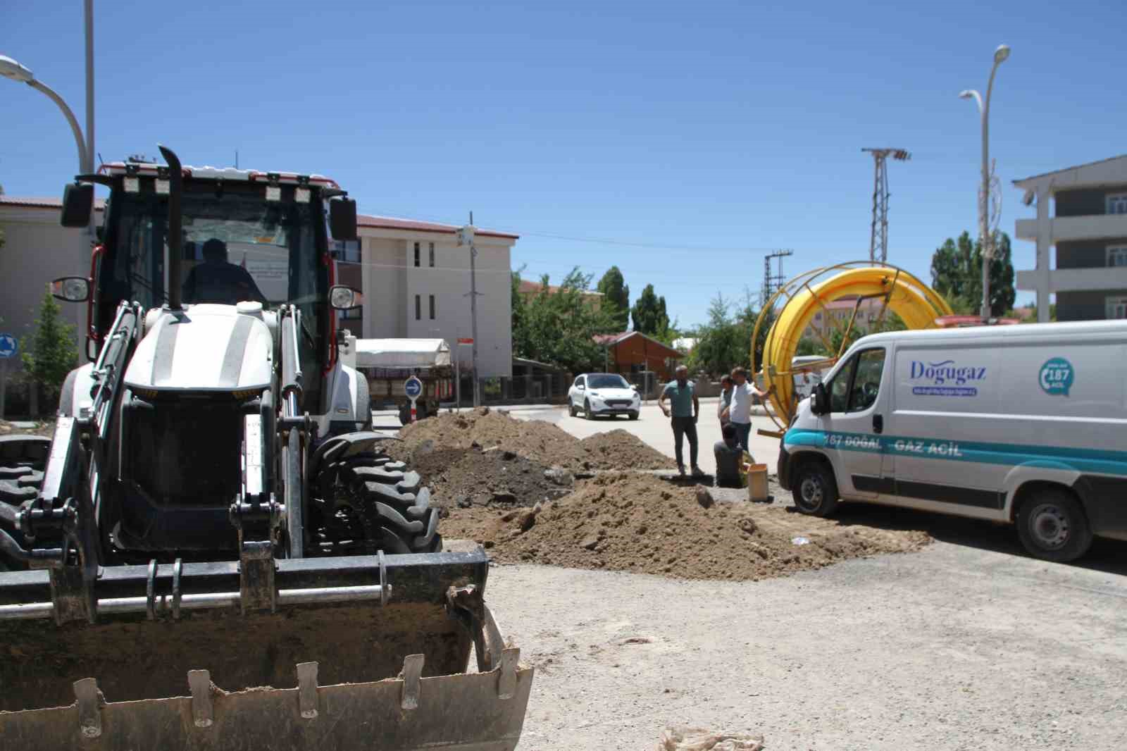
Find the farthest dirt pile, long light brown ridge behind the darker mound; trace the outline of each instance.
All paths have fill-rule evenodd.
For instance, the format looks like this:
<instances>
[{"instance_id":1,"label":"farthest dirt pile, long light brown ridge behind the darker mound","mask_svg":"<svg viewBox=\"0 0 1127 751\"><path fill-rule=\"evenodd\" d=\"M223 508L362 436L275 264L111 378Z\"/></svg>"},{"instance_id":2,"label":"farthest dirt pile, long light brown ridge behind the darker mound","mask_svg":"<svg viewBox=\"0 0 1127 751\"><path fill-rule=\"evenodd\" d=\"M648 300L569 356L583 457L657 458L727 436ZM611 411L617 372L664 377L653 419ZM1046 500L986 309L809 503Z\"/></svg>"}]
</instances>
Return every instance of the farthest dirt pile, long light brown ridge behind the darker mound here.
<instances>
[{"instance_id":1,"label":"farthest dirt pile, long light brown ridge behind the darker mound","mask_svg":"<svg viewBox=\"0 0 1127 751\"><path fill-rule=\"evenodd\" d=\"M551 423L515 419L488 407L444 413L405 425L399 438L402 444L388 447L389 453L398 459L411 459L418 447L431 441L440 449L498 447L532 461L571 471L676 467L673 459L621 428L580 441Z\"/></svg>"}]
</instances>

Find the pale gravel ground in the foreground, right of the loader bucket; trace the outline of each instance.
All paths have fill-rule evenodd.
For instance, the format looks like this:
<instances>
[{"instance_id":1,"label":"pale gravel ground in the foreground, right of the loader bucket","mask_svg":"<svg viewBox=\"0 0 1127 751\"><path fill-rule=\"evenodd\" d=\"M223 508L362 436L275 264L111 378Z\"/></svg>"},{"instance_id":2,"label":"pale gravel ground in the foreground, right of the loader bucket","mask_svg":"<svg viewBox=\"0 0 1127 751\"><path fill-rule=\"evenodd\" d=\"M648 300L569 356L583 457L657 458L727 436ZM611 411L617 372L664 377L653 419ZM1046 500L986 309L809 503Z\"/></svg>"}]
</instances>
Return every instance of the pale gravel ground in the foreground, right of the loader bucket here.
<instances>
[{"instance_id":1,"label":"pale gravel ground in the foreground, right of the loader bucket","mask_svg":"<svg viewBox=\"0 0 1127 751\"><path fill-rule=\"evenodd\" d=\"M487 599L536 666L518 748L650 751L678 724L770 751L1125 748L1127 546L1086 569L1011 531L760 582L499 566Z\"/></svg>"}]
</instances>

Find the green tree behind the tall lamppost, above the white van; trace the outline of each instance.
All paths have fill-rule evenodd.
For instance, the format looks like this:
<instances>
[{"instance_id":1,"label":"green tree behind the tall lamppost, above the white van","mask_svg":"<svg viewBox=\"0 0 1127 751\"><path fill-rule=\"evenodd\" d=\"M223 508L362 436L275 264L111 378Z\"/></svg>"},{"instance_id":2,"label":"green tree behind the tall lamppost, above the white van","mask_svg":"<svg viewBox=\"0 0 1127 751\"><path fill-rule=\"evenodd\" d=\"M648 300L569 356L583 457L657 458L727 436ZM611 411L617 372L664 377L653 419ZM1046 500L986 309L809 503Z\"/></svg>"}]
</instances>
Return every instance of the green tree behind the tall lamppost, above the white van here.
<instances>
[{"instance_id":1,"label":"green tree behind the tall lamppost, above the white van","mask_svg":"<svg viewBox=\"0 0 1127 751\"><path fill-rule=\"evenodd\" d=\"M957 312L977 313L982 308L982 244L971 241L969 232L957 240L948 238L931 257L931 283ZM1001 316L1013 307L1013 262L1010 236L1000 233L990 263L991 316Z\"/></svg>"}]
</instances>

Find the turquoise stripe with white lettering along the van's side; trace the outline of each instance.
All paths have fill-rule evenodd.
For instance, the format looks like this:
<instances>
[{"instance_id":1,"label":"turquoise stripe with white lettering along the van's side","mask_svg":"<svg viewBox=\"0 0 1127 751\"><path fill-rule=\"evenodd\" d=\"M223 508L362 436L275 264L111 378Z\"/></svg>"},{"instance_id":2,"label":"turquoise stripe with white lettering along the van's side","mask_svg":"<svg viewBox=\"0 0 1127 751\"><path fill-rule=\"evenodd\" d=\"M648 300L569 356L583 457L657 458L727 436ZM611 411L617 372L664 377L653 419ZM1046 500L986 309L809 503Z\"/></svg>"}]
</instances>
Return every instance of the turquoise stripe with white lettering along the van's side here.
<instances>
[{"instance_id":1,"label":"turquoise stripe with white lettering along the van's side","mask_svg":"<svg viewBox=\"0 0 1127 751\"><path fill-rule=\"evenodd\" d=\"M906 435L838 433L792 427L783 435L784 447L808 445L838 451L891 453L902 457L975 461L983 465L1041 467L1098 475L1127 476L1127 451L1075 449L1055 445L939 441Z\"/></svg>"}]
</instances>

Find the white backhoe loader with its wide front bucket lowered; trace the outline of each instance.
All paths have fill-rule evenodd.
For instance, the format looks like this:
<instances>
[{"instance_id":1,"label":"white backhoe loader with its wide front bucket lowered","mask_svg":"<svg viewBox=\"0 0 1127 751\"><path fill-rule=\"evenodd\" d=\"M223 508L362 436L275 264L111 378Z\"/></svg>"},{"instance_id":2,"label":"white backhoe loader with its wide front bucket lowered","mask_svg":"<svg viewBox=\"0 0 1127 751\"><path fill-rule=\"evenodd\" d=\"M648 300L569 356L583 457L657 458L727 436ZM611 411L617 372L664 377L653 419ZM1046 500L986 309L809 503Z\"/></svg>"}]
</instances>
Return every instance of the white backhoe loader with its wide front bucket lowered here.
<instances>
[{"instance_id":1,"label":"white backhoe loader with its wide front bucket lowered","mask_svg":"<svg viewBox=\"0 0 1127 751\"><path fill-rule=\"evenodd\" d=\"M114 162L92 362L0 443L0 748L513 749L532 670L340 362L318 175ZM470 655L476 671L470 670Z\"/></svg>"}]
</instances>

